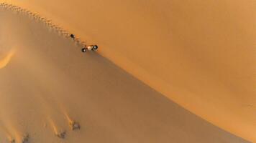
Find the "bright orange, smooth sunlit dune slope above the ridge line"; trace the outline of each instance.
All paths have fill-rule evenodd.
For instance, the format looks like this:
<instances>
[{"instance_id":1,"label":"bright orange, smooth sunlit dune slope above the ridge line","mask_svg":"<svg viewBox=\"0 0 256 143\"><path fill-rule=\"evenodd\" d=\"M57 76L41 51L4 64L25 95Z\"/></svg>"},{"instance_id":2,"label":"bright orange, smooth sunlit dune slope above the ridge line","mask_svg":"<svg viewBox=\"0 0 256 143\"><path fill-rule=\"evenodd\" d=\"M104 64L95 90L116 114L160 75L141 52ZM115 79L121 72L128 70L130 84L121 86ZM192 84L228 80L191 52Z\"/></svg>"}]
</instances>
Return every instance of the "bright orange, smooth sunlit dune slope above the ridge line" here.
<instances>
[{"instance_id":1,"label":"bright orange, smooth sunlit dune slope above the ridge line","mask_svg":"<svg viewBox=\"0 0 256 143\"><path fill-rule=\"evenodd\" d=\"M256 142L255 0L6 0L207 121Z\"/></svg>"}]
</instances>

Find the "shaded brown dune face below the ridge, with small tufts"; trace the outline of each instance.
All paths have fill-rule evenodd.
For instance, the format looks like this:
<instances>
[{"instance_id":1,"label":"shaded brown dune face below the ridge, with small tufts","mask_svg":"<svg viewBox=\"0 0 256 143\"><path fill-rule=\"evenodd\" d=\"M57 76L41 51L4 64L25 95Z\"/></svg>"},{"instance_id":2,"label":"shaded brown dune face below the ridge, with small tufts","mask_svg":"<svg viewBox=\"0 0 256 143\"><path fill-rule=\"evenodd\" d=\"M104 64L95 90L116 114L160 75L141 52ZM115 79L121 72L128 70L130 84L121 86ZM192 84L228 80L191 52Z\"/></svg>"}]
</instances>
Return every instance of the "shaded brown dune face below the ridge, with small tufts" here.
<instances>
[{"instance_id":1,"label":"shaded brown dune face below the ridge, with small tufts","mask_svg":"<svg viewBox=\"0 0 256 143\"><path fill-rule=\"evenodd\" d=\"M15 50L0 69L0 142L246 142L42 22L6 10L0 19L1 54Z\"/></svg>"}]
</instances>

